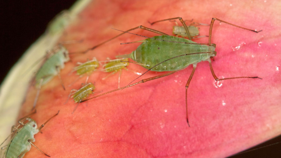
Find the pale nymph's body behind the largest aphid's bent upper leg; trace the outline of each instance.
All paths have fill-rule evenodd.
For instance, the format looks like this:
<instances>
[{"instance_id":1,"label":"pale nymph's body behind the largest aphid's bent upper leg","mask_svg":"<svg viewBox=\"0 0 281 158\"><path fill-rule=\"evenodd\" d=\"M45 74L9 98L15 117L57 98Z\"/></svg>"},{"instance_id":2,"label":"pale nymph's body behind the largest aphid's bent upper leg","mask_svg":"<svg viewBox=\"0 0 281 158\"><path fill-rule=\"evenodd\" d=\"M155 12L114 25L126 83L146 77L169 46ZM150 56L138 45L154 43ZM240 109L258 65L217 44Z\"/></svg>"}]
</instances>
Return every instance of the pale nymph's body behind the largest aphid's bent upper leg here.
<instances>
[{"instance_id":1,"label":"pale nymph's body behind the largest aphid's bent upper leg","mask_svg":"<svg viewBox=\"0 0 281 158\"><path fill-rule=\"evenodd\" d=\"M198 27L195 26L187 26L187 27L191 37L195 37L199 35ZM183 26L173 26L173 34L179 35L181 37L188 37L185 31L185 27Z\"/></svg>"}]
</instances>

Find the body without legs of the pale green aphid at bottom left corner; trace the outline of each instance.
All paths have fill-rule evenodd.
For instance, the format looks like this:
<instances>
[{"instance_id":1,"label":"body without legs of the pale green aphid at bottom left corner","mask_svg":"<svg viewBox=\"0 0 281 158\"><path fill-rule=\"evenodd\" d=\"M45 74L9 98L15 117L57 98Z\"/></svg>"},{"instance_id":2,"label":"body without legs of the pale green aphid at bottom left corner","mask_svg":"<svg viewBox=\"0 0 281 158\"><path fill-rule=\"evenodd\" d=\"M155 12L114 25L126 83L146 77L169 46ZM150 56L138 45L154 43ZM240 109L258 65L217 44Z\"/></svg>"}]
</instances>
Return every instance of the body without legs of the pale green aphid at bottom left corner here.
<instances>
[{"instance_id":1,"label":"body without legs of the pale green aphid at bottom left corner","mask_svg":"<svg viewBox=\"0 0 281 158\"><path fill-rule=\"evenodd\" d=\"M30 150L31 144L27 141L35 141L34 135L39 132L37 124L31 118L28 118L28 123L20 128L13 136L6 153L6 158L17 158L22 152L24 154ZM22 157L24 156L22 155Z\"/></svg>"}]
</instances>

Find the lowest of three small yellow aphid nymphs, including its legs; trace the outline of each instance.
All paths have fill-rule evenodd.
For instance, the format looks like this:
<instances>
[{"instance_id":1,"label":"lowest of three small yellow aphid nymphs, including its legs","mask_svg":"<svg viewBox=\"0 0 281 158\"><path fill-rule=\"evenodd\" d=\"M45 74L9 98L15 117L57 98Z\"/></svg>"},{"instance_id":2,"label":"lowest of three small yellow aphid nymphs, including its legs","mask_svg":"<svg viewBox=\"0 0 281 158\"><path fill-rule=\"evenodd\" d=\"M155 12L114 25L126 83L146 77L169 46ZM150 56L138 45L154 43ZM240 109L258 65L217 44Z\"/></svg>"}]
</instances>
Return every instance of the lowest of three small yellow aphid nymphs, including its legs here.
<instances>
[{"instance_id":1,"label":"lowest of three small yellow aphid nymphs, including its legs","mask_svg":"<svg viewBox=\"0 0 281 158\"><path fill-rule=\"evenodd\" d=\"M74 108L74 110L72 111L72 114L76 110L76 108L80 104L80 102L87 99L90 94L94 93L93 91L95 89L95 86L92 83L87 83L86 85L84 85L84 83L82 83L81 86L82 87L78 90L72 89L70 91L70 94L68 95L68 98L67 98L67 101L68 101L68 99L72 95L71 98L73 98L74 102L78 103L76 105L76 107ZM66 101L66 103L67 103L67 101Z\"/></svg>"}]
</instances>

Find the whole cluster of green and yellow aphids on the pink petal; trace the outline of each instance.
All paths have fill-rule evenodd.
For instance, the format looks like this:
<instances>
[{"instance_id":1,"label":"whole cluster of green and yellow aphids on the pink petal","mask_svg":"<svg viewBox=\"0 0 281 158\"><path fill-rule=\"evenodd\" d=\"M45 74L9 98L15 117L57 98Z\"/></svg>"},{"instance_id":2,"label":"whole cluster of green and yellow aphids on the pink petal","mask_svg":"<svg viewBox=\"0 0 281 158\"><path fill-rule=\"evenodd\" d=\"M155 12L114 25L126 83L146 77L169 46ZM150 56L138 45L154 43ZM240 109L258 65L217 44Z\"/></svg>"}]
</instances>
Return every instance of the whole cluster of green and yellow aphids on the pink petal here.
<instances>
[{"instance_id":1,"label":"whole cluster of green and yellow aphids on the pink petal","mask_svg":"<svg viewBox=\"0 0 281 158\"><path fill-rule=\"evenodd\" d=\"M63 16L65 16L65 15L63 14ZM56 30L58 29L57 27L61 28L62 26L64 26L65 18L60 19L60 17L57 17L57 19L59 19L59 20L52 22L51 25L48 27L49 29L51 29L51 31L49 30L49 32L56 32ZM79 76L78 79L85 75L87 75L87 78L86 78L85 83L82 84L80 89L71 90L71 92L68 96L68 99L70 97L73 98L73 100L77 103L77 106L78 106L78 104L80 102L87 101L87 100L90 100L90 99L93 99L93 98L96 98L96 97L99 97L102 95L106 95L113 91L118 91L118 90L121 90L121 89L124 89L127 87L131 87L131 86L134 86L139 83L144 83L146 81L151 81L154 79L165 77L176 71L182 70L182 69L188 67L189 65L193 65L193 70L185 85L186 121L189 126L188 112L187 112L187 89L188 89L189 83L192 79L192 76L195 72L196 64L198 62L208 61L209 65L210 65L211 73L212 73L214 79L217 81L227 80L227 79L237 79L237 78L259 78L259 77L229 77L229 78L219 79L214 74L214 71L213 71L213 68L211 65L211 60L210 60L210 58L213 58L216 55L216 52L215 52L216 45L214 43L211 43L211 32L212 32L212 27L213 27L215 20L232 25L234 27L239 27L239 28L242 28L245 30L249 30L252 32L257 33L257 31L247 29L244 27L240 27L240 26L219 20L217 18L213 18L211 21L211 24L210 24L209 36L205 36L205 37L209 37L209 42L208 43L195 43L191 40L194 37L198 37L198 35L199 35L198 27L195 27L195 26L198 24L200 25L200 23L193 23L193 25L187 26L185 24L185 21L183 21L183 19L180 17L169 18L169 19L160 20L160 21L156 21L156 22L175 20L175 19L180 20L180 22L183 24L183 26L175 26L173 28L173 34L175 34L177 36L181 36L181 37L187 37L188 39L175 37L175 36L169 36L166 33L163 33L163 32L148 28L148 27L144 27L144 26L134 27L125 32L123 31L121 34L117 35L116 37L118 37L122 34L125 34L125 33L130 33L129 31L132 31L132 30L135 30L138 28L160 34L160 36L146 37L146 36L138 35L138 36L146 37L146 39L142 40L142 41L137 41L137 42L142 42L142 43L135 51L133 51L131 54L119 56L119 57L123 57L122 59L108 60L107 63L105 63L103 65L103 68L101 69L101 71L104 71L104 72L112 72L112 73L116 73L118 71L121 72L121 69L126 68L126 66L128 65L128 57L130 57L132 60L135 61L133 63L139 64L139 65L145 67L146 69L148 69L146 72L151 70L151 71L168 72L168 73L161 74L161 75L158 75L155 77L142 79L139 82L133 83L133 84L125 86L125 87L119 88L119 86L118 86L118 89L102 93L102 94L94 96L92 98L88 98L89 95L93 94L93 91L95 89L95 86L91 82L88 83L88 78L92 74L92 72L94 72L98 69L98 67L100 65L100 62L98 62L98 60L96 58L93 58L92 60L88 60L84 63L80 63L80 62L77 63L78 66L74 67L73 71L71 71L71 72L76 72L76 74ZM156 22L152 22L150 24L152 25ZM54 30L54 31L52 31L52 30ZM135 35L137 35L137 34L135 34ZM105 42L102 42L101 44L98 44L88 50L93 50L94 48L101 46L102 44L104 44L116 37L113 37ZM129 42L129 43L135 43L135 42ZM123 44L126 44L126 43L123 43ZM87 51L85 51L84 53L86 53ZM36 94L36 97L34 100L33 109L35 109L41 86L47 84L55 76L58 76L60 78L60 75L59 75L60 70L64 68L64 63L68 62L70 60L68 50L62 45L58 45L58 46L54 47L51 51L49 51L47 53L47 56L48 57L47 57L46 61L44 62L42 67L37 71L35 78L34 78L34 80L36 82L35 85L37 87L37 94ZM122 60L122 62L121 62L121 60ZM185 62L182 62L182 61L185 61ZM119 76L119 78L120 78L120 76ZM76 79L75 81L77 81L78 79ZM62 83L61 78L60 78L60 80ZM71 85L74 82L72 82ZM120 82L120 80L119 80L119 82ZM71 85L69 85L69 86L71 86ZM63 83L62 83L62 86L63 86ZM64 88L64 86L63 86L63 88ZM75 109L76 109L76 107L75 107ZM73 110L73 112L75 111L75 109ZM35 112L33 112L33 113L35 113ZM56 116L56 115L58 115L58 112L54 116ZM37 134L41 130L41 128L54 117L54 116L52 116L40 128L37 128L36 122L33 119L29 118L28 116L20 119L18 121L19 122L18 126L16 126L16 127L13 126L12 133L10 134L10 136L12 136L11 141L7 146L2 147L0 158L2 158L2 157L5 157L5 158L23 157L24 154L30 150L31 145L35 146L32 143L35 141L34 135ZM0 146L2 146L2 144ZM41 151L39 148L37 148L37 149L39 151ZM43 154L45 154L43 151L41 151L41 152ZM45 155L48 156L47 154L45 154Z\"/></svg>"}]
</instances>

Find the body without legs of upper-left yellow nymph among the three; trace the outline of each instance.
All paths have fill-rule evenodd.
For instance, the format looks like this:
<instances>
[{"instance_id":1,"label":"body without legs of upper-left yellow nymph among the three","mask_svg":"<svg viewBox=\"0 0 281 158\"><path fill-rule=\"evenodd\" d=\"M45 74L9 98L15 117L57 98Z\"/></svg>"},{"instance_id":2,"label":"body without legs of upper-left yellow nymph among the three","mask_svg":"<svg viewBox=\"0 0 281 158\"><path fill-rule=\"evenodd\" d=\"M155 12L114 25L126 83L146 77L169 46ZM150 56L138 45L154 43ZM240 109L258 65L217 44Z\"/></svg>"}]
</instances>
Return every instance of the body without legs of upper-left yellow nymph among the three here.
<instances>
[{"instance_id":1,"label":"body without legs of upper-left yellow nymph among the three","mask_svg":"<svg viewBox=\"0 0 281 158\"><path fill-rule=\"evenodd\" d=\"M77 70L77 75L83 75L85 73L91 74L97 67L99 67L99 62L97 60L91 60L75 67L75 69Z\"/></svg>"}]
</instances>

